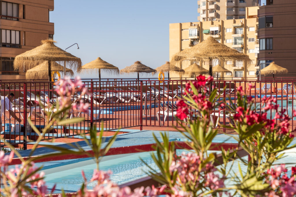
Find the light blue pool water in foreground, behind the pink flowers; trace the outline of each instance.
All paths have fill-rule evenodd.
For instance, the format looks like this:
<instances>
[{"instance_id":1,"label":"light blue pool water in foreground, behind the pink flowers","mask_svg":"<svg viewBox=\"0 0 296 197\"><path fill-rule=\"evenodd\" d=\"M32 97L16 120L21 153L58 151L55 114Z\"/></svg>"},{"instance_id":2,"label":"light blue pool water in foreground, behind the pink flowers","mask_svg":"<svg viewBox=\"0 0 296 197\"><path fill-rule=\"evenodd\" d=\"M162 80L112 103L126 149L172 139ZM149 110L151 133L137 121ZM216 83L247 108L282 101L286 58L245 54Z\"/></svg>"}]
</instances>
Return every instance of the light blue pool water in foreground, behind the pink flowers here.
<instances>
[{"instance_id":1,"label":"light blue pool water in foreground, behind the pink flowers","mask_svg":"<svg viewBox=\"0 0 296 197\"><path fill-rule=\"evenodd\" d=\"M184 150L177 150L177 154L180 155ZM185 151L189 152L189 151ZM216 152L217 151L209 151ZM110 180L117 183L118 185L127 183L133 180L137 180L142 177L146 177L146 172L149 168L141 162L140 157L153 169L157 169L155 163L150 157L151 152L135 153L135 154L124 154L124 155L114 155L107 156L100 162L100 170L111 170L113 174L110 176ZM244 157L247 159L247 157ZM277 164L285 163L287 167L295 166L296 164L296 148L285 152L285 157L277 161ZM81 170L84 170L87 180L90 180L93 174L93 170L96 168L94 160L90 159L84 162L78 162L70 165L65 165L62 167L52 168L44 170L46 177L45 181L49 188L53 187L56 183L56 193L60 193L63 188L66 192L78 191L83 183L83 178L81 176ZM230 165L227 166L229 170ZM247 170L247 166L241 165L242 171ZM231 169L231 175L238 173L238 161L234 162ZM290 173L290 172L289 172ZM226 185L231 185L234 182L230 179L225 181ZM91 189L95 182L89 183L88 188Z\"/></svg>"}]
</instances>

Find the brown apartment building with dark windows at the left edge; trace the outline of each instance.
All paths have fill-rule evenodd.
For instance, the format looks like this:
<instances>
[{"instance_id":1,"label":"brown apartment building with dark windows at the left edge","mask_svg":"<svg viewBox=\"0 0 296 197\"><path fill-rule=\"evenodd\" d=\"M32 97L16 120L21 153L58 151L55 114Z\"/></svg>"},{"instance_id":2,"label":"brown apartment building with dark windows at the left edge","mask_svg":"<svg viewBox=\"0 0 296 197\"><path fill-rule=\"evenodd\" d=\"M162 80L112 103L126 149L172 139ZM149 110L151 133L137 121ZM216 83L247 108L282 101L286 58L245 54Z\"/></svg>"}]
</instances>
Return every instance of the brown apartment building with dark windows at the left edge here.
<instances>
[{"instance_id":1,"label":"brown apartment building with dark windows at the left edge","mask_svg":"<svg viewBox=\"0 0 296 197\"><path fill-rule=\"evenodd\" d=\"M53 38L53 10L54 0L0 1L0 80L25 79L25 72L14 71L14 57Z\"/></svg>"}]
</instances>

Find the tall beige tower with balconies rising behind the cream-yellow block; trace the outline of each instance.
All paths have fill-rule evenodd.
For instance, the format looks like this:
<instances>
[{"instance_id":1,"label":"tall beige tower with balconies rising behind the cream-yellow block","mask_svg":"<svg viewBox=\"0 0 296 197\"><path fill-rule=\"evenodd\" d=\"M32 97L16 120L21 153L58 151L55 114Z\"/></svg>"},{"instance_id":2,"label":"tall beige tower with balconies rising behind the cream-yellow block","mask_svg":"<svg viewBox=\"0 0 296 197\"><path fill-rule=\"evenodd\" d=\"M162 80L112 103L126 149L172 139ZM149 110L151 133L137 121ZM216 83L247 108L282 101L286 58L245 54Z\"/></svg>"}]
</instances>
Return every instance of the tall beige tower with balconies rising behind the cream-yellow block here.
<instances>
[{"instance_id":1,"label":"tall beige tower with balconies rising behind the cream-yellow block","mask_svg":"<svg viewBox=\"0 0 296 197\"><path fill-rule=\"evenodd\" d=\"M260 0L198 0L199 21L244 19L246 7L260 6Z\"/></svg>"}]
</instances>

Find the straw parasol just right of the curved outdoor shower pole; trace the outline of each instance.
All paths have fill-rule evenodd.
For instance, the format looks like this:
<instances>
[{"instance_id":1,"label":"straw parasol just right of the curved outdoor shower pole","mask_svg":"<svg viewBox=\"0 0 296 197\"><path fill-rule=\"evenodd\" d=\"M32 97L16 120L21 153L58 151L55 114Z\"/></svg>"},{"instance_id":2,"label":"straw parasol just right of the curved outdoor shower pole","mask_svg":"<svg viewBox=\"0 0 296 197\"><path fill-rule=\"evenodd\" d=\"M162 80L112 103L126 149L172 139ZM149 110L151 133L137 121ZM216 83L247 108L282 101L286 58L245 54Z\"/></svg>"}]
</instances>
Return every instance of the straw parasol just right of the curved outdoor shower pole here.
<instances>
[{"instance_id":1,"label":"straw parasol just right of the curved outdoor shower pole","mask_svg":"<svg viewBox=\"0 0 296 197\"><path fill-rule=\"evenodd\" d=\"M112 64L109 64L108 62L102 60L100 57L96 58L94 61L91 61L87 64L84 64L81 67L82 70L85 69L98 69L99 70L99 80L101 81L101 70L107 71L112 74L119 74L119 69L116 66L113 66Z\"/></svg>"}]
</instances>

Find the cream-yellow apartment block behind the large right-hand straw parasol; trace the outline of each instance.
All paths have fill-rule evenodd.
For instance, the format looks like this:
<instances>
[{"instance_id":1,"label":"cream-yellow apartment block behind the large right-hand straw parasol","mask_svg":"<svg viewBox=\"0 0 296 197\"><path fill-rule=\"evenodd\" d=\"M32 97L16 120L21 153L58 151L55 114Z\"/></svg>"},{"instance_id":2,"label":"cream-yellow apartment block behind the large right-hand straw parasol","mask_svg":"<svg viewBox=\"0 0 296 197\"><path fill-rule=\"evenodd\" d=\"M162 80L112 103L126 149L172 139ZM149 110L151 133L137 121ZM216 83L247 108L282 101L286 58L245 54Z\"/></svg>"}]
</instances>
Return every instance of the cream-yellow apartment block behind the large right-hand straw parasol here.
<instances>
[{"instance_id":1,"label":"cream-yellow apartment block behind the large right-hand straw parasol","mask_svg":"<svg viewBox=\"0 0 296 197\"><path fill-rule=\"evenodd\" d=\"M246 53L252 60L252 63L249 65L244 65L242 61L219 62L218 60L213 60L213 66L222 64L232 72L232 74L224 74L224 77L255 77L255 73L259 69L259 66L256 64L259 53L259 43L257 40L258 8L258 6L247 7L244 19L170 24L170 59L175 53L194 46L209 36L213 36L218 42L241 53ZM205 69L209 69L208 61L200 63L188 60L183 61L179 66L185 69L193 63L202 64ZM173 73L171 76L173 77ZM178 77L176 74L174 76Z\"/></svg>"}]
</instances>

